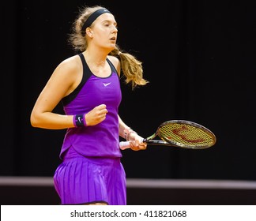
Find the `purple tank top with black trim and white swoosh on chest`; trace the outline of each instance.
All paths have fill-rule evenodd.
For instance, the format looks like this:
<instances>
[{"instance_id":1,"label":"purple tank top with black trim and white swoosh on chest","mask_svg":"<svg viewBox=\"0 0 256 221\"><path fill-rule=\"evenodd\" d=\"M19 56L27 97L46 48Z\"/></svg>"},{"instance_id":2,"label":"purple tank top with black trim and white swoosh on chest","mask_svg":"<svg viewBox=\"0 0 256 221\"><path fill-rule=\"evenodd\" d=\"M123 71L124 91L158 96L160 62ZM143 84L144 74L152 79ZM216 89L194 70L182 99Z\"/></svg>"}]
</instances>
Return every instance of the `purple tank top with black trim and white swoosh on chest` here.
<instances>
[{"instance_id":1,"label":"purple tank top with black trim and white swoosh on chest","mask_svg":"<svg viewBox=\"0 0 256 221\"><path fill-rule=\"evenodd\" d=\"M106 104L108 113L100 124L67 129L60 159L71 146L85 156L122 157L119 149L118 112L122 99L119 75L107 59L111 74L108 77L96 77L88 68L84 55L78 55L83 64L83 77L77 88L62 99L65 113L85 114L100 104Z\"/></svg>"}]
</instances>

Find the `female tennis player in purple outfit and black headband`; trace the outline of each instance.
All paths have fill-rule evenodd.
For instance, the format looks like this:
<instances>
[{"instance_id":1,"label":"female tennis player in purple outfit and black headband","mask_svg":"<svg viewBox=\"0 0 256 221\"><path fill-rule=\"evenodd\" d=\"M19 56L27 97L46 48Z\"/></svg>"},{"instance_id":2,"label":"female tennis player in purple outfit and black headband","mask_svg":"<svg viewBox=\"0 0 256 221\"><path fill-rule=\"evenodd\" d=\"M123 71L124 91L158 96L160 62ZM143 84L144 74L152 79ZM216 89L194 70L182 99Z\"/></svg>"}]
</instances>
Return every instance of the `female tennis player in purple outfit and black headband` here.
<instances>
[{"instance_id":1,"label":"female tennis player in purple outfit and black headband","mask_svg":"<svg viewBox=\"0 0 256 221\"><path fill-rule=\"evenodd\" d=\"M119 117L121 70L132 88L148 81L141 62L117 46L117 34L109 10L81 9L69 39L80 52L56 67L32 110L32 126L67 129L54 174L62 204L126 204L119 136L131 140L134 151L146 148ZM65 114L54 113L59 102Z\"/></svg>"}]
</instances>

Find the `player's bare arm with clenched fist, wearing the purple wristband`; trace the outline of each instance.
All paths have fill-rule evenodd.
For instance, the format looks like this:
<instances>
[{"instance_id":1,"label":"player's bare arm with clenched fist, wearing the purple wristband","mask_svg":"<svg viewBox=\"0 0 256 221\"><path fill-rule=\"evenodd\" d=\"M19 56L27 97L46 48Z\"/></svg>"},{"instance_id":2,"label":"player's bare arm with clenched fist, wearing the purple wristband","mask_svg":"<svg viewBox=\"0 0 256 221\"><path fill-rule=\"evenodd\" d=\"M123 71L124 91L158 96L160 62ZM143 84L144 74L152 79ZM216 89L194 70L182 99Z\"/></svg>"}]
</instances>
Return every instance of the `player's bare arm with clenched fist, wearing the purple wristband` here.
<instances>
[{"instance_id":1,"label":"player's bare arm with clenched fist, wearing the purple wristband","mask_svg":"<svg viewBox=\"0 0 256 221\"><path fill-rule=\"evenodd\" d=\"M57 114L53 110L61 99L73 92L81 82L82 66L77 57L60 63L40 93L33 107L30 121L32 126L43 129L72 128L73 115ZM96 125L106 118L107 107L99 105L85 115L87 125Z\"/></svg>"}]
</instances>

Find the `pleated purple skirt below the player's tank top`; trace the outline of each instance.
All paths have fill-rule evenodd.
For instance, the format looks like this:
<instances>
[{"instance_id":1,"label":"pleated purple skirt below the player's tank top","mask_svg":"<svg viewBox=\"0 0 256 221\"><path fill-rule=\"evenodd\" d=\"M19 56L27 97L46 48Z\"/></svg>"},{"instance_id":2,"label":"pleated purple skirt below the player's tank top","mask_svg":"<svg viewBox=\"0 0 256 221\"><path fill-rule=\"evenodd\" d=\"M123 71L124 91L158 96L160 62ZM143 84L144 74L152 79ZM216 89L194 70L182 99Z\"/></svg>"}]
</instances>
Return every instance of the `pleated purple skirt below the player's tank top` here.
<instances>
[{"instance_id":1,"label":"pleated purple skirt below the player's tank top","mask_svg":"<svg viewBox=\"0 0 256 221\"><path fill-rule=\"evenodd\" d=\"M73 148L55 170L62 204L126 205L126 174L119 158L85 157Z\"/></svg>"}]
</instances>

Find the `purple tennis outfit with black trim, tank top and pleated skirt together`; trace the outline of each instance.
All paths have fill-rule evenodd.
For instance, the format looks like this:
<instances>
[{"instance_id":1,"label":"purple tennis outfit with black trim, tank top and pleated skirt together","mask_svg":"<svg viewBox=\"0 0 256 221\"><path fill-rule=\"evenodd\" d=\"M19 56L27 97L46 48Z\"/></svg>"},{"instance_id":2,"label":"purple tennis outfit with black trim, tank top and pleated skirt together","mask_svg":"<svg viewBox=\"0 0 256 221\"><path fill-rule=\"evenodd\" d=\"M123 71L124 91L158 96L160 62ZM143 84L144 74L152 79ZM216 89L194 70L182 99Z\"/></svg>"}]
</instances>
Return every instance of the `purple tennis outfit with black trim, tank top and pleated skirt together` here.
<instances>
[{"instance_id":1,"label":"purple tennis outfit with black trim, tank top and pleated skirt together","mask_svg":"<svg viewBox=\"0 0 256 221\"><path fill-rule=\"evenodd\" d=\"M126 174L120 159L118 109L122 99L115 66L108 77L96 77L83 54L83 77L78 87L62 99L67 115L85 114L106 104L107 117L98 125L67 129L55 170L55 189L62 204L105 202L126 204Z\"/></svg>"}]
</instances>

